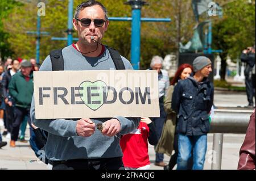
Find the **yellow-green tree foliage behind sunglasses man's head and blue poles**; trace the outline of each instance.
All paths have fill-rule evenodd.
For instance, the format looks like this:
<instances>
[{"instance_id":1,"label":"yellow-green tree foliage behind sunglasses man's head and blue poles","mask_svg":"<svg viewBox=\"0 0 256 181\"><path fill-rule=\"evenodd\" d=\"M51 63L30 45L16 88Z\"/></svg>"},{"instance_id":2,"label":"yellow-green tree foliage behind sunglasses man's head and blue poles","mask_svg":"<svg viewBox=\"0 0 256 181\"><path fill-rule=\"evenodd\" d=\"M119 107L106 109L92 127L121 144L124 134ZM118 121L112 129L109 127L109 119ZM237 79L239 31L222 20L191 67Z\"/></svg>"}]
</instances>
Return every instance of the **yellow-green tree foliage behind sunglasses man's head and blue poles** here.
<instances>
[{"instance_id":1,"label":"yellow-green tree foliage behind sunglasses man's head and blue poles","mask_svg":"<svg viewBox=\"0 0 256 181\"><path fill-rule=\"evenodd\" d=\"M25 1L25 0L24 0ZM3 21L5 30L15 56L22 58L35 57L36 36L28 35L27 31L36 31L36 0L14 7L11 14ZM50 36L41 36L40 60L44 60L50 50L63 48L66 41L53 41L51 37L67 37L68 0L47 0L46 16L41 16L41 31ZM109 17L131 17L131 6L124 5L124 0L102 0L108 9ZM171 23L142 22L141 27L141 68L148 68L154 55L166 56L177 51L179 41L187 41L192 36L193 22L191 0L147 0L148 6L142 7L144 18L171 18ZM74 12L81 1L74 1ZM77 33L73 33L77 37ZM114 47L130 59L131 22L110 22L102 43Z\"/></svg>"}]
</instances>

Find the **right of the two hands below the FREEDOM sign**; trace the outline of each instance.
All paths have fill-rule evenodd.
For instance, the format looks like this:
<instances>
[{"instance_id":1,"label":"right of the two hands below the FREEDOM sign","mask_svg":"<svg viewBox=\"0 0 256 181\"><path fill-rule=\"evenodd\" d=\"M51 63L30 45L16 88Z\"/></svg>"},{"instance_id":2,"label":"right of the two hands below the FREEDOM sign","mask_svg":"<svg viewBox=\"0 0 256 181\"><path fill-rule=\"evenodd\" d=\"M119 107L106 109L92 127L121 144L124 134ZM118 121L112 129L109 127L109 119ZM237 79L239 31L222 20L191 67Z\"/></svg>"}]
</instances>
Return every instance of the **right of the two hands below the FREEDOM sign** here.
<instances>
[{"instance_id":1,"label":"right of the two hands below the FREEDOM sign","mask_svg":"<svg viewBox=\"0 0 256 181\"><path fill-rule=\"evenodd\" d=\"M104 124L104 128L101 133L105 136L115 136L115 134L121 131L121 124L117 119L110 119Z\"/></svg>"}]
</instances>

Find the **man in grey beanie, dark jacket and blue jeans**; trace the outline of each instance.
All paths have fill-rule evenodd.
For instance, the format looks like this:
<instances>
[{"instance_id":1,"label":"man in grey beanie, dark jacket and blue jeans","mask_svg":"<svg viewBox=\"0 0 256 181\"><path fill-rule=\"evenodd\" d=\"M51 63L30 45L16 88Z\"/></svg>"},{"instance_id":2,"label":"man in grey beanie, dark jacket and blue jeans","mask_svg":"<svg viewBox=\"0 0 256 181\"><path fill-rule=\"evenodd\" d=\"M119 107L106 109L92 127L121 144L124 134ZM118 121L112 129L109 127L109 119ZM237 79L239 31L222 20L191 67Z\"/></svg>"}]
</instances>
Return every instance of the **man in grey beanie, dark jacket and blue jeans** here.
<instances>
[{"instance_id":1,"label":"man in grey beanie, dark jacket and blue jeans","mask_svg":"<svg viewBox=\"0 0 256 181\"><path fill-rule=\"evenodd\" d=\"M209 113L213 105L213 83L208 77L212 62L204 56L193 61L194 73L179 81L172 94L172 110L177 114L177 169L188 169L193 148L193 170L204 168Z\"/></svg>"}]
</instances>

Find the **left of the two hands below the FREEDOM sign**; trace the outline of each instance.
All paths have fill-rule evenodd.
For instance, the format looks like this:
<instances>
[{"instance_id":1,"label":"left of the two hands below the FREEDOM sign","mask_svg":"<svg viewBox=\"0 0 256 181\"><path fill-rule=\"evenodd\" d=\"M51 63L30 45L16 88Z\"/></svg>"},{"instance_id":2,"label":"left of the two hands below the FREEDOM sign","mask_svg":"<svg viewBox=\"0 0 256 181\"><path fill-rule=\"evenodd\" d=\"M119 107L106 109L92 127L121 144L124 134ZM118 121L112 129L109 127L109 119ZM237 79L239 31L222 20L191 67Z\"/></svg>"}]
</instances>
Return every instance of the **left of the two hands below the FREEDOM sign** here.
<instances>
[{"instance_id":1,"label":"left of the two hands below the FREEDOM sign","mask_svg":"<svg viewBox=\"0 0 256 181\"><path fill-rule=\"evenodd\" d=\"M78 136L89 137L95 132L95 124L89 118L82 118L77 121L76 133Z\"/></svg>"}]
</instances>

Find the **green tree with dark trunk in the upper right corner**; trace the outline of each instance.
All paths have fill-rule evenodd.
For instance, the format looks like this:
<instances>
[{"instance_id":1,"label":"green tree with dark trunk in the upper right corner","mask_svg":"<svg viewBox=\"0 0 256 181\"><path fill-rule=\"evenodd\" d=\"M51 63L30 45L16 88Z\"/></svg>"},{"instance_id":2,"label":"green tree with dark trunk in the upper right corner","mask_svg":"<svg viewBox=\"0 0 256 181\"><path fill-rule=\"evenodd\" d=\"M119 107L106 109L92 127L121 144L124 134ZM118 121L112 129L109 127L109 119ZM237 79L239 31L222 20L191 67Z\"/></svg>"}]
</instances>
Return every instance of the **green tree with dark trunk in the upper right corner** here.
<instances>
[{"instance_id":1,"label":"green tree with dark trunk in the upper right corner","mask_svg":"<svg viewBox=\"0 0 256 181\"><path fill-rule=\"evenodd\" d=\"M224 17L213 24L213 47L220 54L221 79L225 79L226 57L240 57L243 49L255 44L255 0L223 1Z\"/></svg>"}]
</instances>

